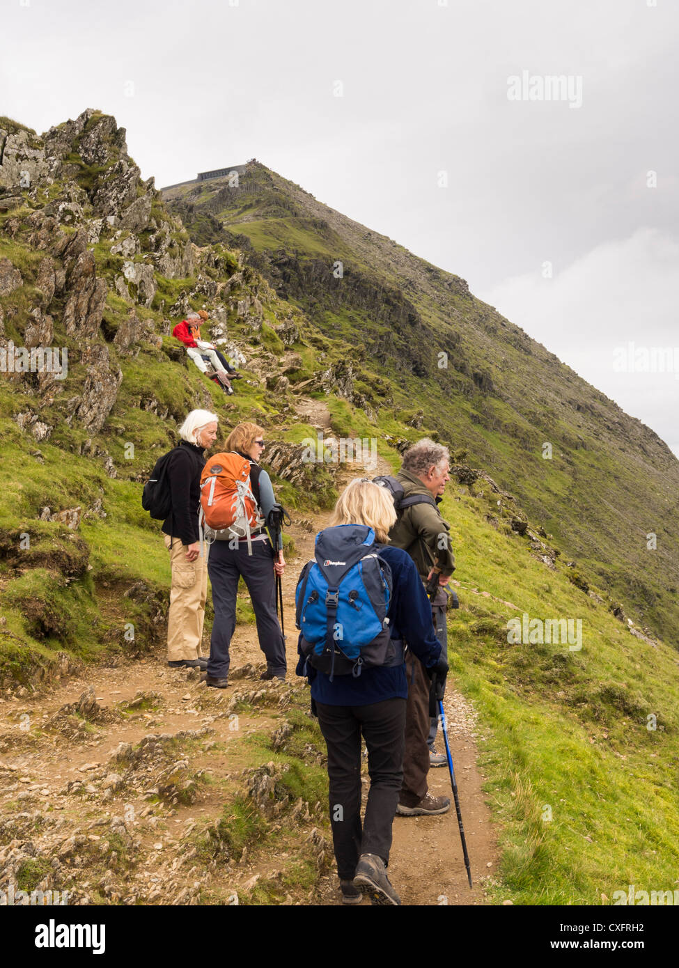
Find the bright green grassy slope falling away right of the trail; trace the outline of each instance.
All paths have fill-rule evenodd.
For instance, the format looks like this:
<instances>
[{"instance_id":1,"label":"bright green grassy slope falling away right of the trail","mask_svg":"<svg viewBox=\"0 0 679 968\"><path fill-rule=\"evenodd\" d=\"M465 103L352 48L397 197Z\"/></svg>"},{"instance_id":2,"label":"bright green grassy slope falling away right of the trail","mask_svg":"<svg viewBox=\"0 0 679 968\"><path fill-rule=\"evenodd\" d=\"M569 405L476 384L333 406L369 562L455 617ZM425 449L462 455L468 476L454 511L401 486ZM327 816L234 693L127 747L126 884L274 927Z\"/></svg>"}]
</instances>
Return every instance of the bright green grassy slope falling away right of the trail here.
<instances>
[{"instance_id":1,"label":"bright green grassy slope falling away right of the trail","mask_svg":"<svg viewBox=\"0 0 679 968\"><path fill-rule=\"evenodd\" d=\"M480 768L503 849L495 899L597 904L628 884L670 885L679 861L676 652L633 638L567 568L550 572L525 539L489 531L477 502L455 490L443 513L463 588L448 655L485 737ZM507 621L523 612L581 618L582 650L509 645ZM460 796L464 814L463 786Z\"/></svg>"}]
</instances>

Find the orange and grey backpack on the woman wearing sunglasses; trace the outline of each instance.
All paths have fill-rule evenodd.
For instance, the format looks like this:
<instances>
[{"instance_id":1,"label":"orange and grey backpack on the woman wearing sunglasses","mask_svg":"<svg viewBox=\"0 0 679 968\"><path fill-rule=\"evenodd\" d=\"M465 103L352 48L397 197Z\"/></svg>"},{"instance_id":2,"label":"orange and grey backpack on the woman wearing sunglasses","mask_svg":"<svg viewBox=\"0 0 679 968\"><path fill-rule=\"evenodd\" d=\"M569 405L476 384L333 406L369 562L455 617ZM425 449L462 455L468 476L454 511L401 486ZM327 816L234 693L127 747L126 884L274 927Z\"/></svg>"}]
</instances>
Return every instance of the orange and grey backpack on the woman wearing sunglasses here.
<instances>
[{"instance_id":1,"label":"orange and grey backpack on the woman wearing sunglasses","mask_svg":"<svg viewBox=\"0 0 679 968\"><path fill-rule=\"evenodd\" d=\"M231 537L247 538L262 527L257 501L250 484L250 462L240 454L215 454L201 473L202 522L215 531L227 530Z\"/></svg>"}]
</instances>

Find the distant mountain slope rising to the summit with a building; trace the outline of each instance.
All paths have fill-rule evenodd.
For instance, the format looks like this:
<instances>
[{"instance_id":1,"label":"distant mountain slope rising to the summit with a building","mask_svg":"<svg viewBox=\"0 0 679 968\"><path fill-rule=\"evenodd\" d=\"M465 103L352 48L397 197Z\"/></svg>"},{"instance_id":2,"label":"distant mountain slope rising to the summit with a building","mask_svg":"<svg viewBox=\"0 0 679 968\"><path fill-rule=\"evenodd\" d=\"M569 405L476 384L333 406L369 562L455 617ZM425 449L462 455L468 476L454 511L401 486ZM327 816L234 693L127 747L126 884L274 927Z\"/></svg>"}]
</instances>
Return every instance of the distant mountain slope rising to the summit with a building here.
<instances>
[{"instance_id":1,"label":"distant mountain slope rising to the summit with a building","mask_svg":"<svg viewBox=\"0 0 679 968\"><path fill-rule=\"evenodd\" d=\"M237 246L281 298L343 340L347 375L375 374L348 379L356 406L400 412L490 471L576 560L573 576L591 574L675 635L679 462L652 430L463 279L257 161L162 191L197 244Z\"/></svg>"}]
</instances>

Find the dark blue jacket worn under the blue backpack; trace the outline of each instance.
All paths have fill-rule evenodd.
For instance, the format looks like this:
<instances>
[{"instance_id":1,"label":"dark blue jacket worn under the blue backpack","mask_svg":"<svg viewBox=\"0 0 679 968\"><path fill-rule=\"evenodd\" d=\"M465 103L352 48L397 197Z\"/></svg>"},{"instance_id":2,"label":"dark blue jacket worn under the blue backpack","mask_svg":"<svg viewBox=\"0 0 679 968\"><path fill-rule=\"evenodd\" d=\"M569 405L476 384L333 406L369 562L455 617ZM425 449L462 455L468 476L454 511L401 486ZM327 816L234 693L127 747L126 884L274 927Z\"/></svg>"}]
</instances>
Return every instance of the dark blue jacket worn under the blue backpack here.
<instances>
[{"instance_id":1,"label":"dark blue jacket worn under the blue backpack","mask_svg":"<svg viewBox=\"0 0 679 968\"><path fill-rule=\"evenodd\" d=\"M431 604L415 562L400 548L385 545L379 551L391 568L393 582L388 611L391 638L407 642L424 666L435 665L441 654L441 643L434 634ZM298 643L297 651L299 660L295 672L303 676L304 657ZM405 663L391 668L363 669L357 679L334 676L332 681L307 664L306 675L311 683L311 698L327 706L368 706L385 699L408 698Z\"/></svg>"}]
</instances>

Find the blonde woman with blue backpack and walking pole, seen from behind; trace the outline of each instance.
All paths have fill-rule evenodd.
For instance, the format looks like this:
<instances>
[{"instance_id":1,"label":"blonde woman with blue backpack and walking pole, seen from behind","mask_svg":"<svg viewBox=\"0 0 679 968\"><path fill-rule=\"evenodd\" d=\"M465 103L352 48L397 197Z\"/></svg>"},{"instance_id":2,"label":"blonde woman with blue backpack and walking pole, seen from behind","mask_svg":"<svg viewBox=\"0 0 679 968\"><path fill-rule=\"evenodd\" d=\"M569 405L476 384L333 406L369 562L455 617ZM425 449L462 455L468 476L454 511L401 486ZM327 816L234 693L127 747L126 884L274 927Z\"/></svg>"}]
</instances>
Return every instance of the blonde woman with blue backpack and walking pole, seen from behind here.
<instances>
[{"instance_id":1,"label":"blonde woman with blue backpack and walking pole, seen from behind","mask_svg":"<svg viewBox=\"0 0 679 968\"><path fill-rule=\"evenodd\" d=\"M352 481L338 499L329 527L316 536L317 570L310 562L297 586L297 625L304 631L297 644L296 673L307 676L311 684L312 712L318 715L327 745L332 843L344 904L359 904L362 891L374 904L401 903L386 876L386 867L403 780L408 697L404 644L407 642L408 652L415 652L417 663L426 668L432 681L445 681L448 673L448 657L434 635L429 601L415 563L406 552L387 545L395 521L393 501L384 488L365 478ZM374 552L386 562L386 572ZM350 565L349 570L346 565ZM345 566L343 572L325 578L334 575L336 566ZM328 568L333 570L328 573ZM385 611L385 574L390 574L391 582L386 619L380 615L380 609ZM319 575L322 577L317 586ZM351 590L346 590L347 585ZM314 590L307 595L312 586ZM334 612L329 588L338 590L339 604ZM379 650L372 640L358 659L350 660L346 653L334 649L334 642L332 650L326 647L326 624L328 635L341 650L343 643L357 640L368 621L376 622L376 638L383 640ZM314 638L314 628L320 637L318 644L310 647L306 635ZM318 655L324 648L330 653L329 659ZM374 664L361 665L368 657ZM370 774L362 828L361 734L368 750Z\"/></svg>"}]
</instances>

